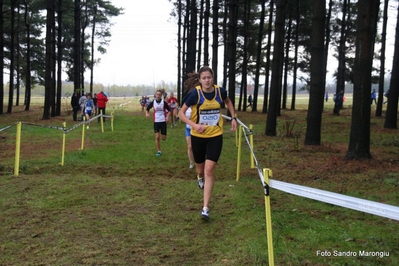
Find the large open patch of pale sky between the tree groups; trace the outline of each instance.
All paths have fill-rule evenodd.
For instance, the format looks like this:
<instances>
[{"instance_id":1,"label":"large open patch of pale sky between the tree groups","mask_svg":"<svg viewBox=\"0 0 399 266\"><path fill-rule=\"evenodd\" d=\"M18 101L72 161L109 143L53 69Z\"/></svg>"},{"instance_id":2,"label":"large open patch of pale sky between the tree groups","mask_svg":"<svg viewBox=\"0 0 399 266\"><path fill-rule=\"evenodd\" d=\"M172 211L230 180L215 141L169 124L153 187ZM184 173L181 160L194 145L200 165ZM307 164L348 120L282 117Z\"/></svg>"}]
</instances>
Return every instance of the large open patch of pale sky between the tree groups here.
<instances>
[{"instance_id":1,"label":"large open patch of pale sky between the tree groups","mask_svg":"<svg viewBox=\"0 0 399 266\"><path fill-rule=\"evenodd\" d=\"M168 0L111 0L124 14L112 18L107 53L96 53L94 82L154 85L176 82L177 24Z\"/></svg>"}]
</instances>

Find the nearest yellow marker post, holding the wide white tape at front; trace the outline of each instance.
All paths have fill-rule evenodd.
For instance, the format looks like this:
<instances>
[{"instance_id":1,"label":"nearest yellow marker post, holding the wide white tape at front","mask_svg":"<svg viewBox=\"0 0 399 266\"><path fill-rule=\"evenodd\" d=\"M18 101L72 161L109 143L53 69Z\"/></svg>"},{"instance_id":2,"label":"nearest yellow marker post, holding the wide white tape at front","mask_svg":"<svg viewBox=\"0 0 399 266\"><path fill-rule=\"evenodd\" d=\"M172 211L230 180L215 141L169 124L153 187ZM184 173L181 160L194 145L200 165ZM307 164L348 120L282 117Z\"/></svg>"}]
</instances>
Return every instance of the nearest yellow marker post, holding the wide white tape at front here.
<instances>
[{"instance_id":1,"label":"nearest yellow marker post, holding the wide white tape at front","mask_svg":"<svg viewBox=\"0 0 399 266\"><path fill-rule=\"evenodd\" d=\"M270 210L270 187L269 187L269 176L272 176L272 170L265 168L263 169L264 176L264 188L265 188L265 211L266 211L266 235L267 235L267 247L269 255L269 265L274 266L274 252L273 252L273 234L272 234L272 213Z\"/></svg>"}]
</instances>

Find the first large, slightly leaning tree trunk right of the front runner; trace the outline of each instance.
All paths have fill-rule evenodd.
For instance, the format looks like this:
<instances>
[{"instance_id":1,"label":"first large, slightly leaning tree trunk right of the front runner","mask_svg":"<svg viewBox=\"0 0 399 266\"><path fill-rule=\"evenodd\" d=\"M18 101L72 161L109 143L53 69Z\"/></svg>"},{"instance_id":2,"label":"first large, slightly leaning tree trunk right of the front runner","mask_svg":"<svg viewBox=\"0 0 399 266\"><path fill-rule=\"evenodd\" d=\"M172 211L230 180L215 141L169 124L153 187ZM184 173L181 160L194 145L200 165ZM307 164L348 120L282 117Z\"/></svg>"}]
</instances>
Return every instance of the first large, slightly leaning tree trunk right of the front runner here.
<instances>
[{"instance_id":1,"label":"first large, slightly leaning tree trunk right of the front runner","mask_svg":"<svg viewBox=\"0 0 399 266\"><path fill-rule=\"evenodd\" d=\"M281 79L282 79L282 54L284 51L284 11L285 0L276 1L276 23L274 33L274 51L272 62L272 80L270 89L269 110L266 119L267 136L276 136L277 115L279 113Z\"/></svg>"}]
</instances>

